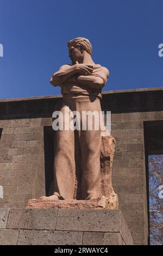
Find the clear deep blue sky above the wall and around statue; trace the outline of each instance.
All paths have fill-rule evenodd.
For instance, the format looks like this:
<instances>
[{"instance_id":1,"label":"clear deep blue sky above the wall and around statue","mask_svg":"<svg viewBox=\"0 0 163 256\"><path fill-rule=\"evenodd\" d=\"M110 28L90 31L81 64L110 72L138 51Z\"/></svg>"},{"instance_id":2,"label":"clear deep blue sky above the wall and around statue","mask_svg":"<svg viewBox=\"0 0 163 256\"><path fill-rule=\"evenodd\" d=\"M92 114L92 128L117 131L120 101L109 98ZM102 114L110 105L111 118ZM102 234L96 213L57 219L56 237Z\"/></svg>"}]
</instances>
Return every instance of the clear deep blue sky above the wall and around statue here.
<instances>
[{"instance_id":1,"label":"clear deep blue sky above the wall and around statue","mask_svg":"<svg viewBox=\"0 0 163 256\"><path fill-rule=\"evenodd\" d=\"M110 77L103 90L162 87L162 0L0 0L0 99L60 94L49 84L83 36Z\"/></svg>"}]
</instances>

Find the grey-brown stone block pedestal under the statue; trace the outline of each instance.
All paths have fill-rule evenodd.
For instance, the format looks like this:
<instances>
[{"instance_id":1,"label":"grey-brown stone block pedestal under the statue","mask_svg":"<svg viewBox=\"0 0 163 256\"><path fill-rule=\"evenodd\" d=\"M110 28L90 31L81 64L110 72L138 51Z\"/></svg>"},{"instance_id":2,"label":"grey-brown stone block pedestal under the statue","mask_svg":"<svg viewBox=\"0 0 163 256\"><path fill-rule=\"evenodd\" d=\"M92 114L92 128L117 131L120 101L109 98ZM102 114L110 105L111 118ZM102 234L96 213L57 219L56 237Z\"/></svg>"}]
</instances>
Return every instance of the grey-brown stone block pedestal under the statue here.
<instances>
[{"instance_id":1,"label":"grey-brown stone block pedestal under the statue","mask_svg":"<svg viewBox=\"0 0 163 256\"><path fill-rule=\"evenodd\" d=\"M120 210L0 209L0 245L133 245Z\"/></svg>"}]
</instances>

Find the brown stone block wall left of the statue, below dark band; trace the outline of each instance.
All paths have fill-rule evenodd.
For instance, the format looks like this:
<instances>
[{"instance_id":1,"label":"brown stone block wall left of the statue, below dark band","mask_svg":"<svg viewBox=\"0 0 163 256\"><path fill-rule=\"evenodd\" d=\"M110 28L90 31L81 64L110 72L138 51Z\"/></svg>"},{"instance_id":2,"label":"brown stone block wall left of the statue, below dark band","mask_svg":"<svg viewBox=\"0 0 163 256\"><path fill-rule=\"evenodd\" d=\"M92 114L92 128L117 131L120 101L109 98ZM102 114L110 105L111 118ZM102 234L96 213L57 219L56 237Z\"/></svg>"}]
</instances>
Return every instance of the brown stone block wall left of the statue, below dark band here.
<instances>
[{"instance_id":1,"label":"brown stone block wall left of the statue, below dark band","mask_svg":"<svg viewBox=\"0 0 163 256\"><path fill-rule=\"evenodd\" d=\"M41 119L1 120L0 207L22 207L45 193L43 127Z\"/></svg>"}]
</instances>

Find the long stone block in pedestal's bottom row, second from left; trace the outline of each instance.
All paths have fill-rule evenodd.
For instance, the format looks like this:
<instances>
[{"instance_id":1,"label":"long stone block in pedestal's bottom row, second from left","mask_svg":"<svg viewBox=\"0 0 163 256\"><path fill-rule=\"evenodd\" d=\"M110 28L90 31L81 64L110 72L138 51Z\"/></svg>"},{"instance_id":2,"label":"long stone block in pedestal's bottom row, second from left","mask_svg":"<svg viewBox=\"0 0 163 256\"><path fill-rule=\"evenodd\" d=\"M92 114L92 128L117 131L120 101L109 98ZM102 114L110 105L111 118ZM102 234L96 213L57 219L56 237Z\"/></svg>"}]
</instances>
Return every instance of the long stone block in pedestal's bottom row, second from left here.
<instances>
[{"instance_id":1,"label":"long stone block in pedestal's bottom row, second from left","mask_svg":"<svg viewBox=\"0 0 163 256\"><path fill-rule=\"evenodd\" d=\"M82 245L83 232L20 230L17 245Z\"/></svg>"}]
</instances>

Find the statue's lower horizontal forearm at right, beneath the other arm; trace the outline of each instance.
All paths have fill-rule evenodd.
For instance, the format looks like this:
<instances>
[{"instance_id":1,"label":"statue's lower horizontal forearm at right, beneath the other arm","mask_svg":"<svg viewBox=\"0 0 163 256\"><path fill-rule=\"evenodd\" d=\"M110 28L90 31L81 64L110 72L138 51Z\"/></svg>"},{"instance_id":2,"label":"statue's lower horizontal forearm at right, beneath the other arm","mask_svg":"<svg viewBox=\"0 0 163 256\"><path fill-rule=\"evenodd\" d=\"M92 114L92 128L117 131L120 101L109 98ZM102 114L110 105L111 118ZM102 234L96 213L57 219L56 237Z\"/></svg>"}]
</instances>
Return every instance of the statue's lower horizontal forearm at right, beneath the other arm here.
<instances>
[{"instance_id":1,"label":"statue's lower horizontal forearm at right, beneath the other arm","mask_svg":"<svg viewBox=\"0 0 163 256\"><path fill-rule=\"evenodd\" d=\"M85 88L101 89L104 86L104 81L98 76L79 76L78 83Z\"/></svg>"}]
</instances>

